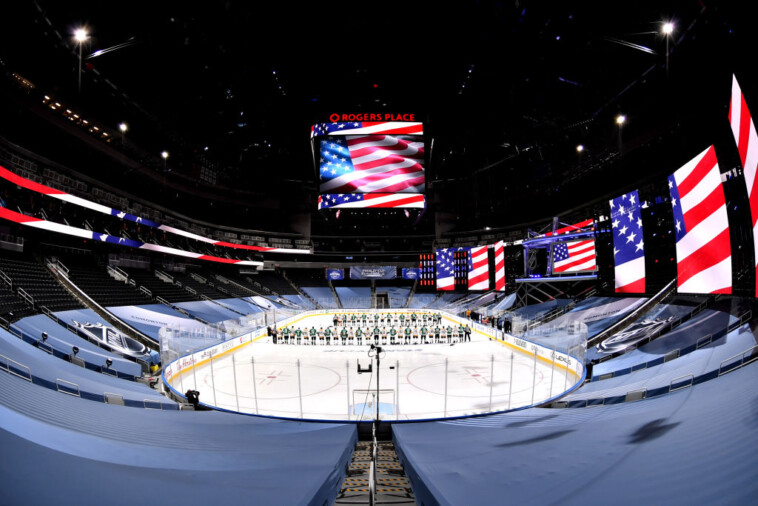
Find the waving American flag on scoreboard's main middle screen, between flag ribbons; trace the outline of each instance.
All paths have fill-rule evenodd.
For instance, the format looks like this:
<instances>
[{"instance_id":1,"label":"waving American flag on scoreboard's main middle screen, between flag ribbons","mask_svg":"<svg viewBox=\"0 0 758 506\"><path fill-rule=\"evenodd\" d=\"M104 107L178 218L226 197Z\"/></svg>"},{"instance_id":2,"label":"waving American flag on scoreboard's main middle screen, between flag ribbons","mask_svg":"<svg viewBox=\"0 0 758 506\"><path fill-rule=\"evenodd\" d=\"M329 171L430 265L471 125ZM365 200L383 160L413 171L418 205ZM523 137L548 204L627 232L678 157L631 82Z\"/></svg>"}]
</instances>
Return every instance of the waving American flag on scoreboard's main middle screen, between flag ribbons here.
<instances>
[{"instance_id":1,"label":"waving American flag on scoreboard's main middle screen, between flag ribbons","mask_svg":"<svg viewBox=\"0 0 758 506\"><path fill-rule=\"evenodd\" d=\"M424 143L392 135L321 139L319 173L324 193L423 193Z\"/></svg>"}]
</instances>

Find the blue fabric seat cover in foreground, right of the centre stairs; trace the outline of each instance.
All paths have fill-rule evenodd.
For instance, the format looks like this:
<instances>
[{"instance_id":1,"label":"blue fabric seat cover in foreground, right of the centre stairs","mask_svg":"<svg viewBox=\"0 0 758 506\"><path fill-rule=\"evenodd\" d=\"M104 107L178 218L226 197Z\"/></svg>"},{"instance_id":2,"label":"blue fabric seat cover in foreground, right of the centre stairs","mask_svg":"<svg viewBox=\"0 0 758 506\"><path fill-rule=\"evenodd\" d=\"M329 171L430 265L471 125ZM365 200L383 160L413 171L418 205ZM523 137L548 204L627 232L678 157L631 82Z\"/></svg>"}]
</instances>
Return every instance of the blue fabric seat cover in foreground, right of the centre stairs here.
<instances>
[{"instance_id":1,"label":"blue fabric seat cover in foreground, right of the centre stairs","mask_svg":"<svg viewBox=\"0 0 758 506\"><path fill-rule=\"evenodd\" d=\"M756 382L750 364L655 399L396 424L393 437L419 504L750 504Z\"/></svg>"}]
</instances>

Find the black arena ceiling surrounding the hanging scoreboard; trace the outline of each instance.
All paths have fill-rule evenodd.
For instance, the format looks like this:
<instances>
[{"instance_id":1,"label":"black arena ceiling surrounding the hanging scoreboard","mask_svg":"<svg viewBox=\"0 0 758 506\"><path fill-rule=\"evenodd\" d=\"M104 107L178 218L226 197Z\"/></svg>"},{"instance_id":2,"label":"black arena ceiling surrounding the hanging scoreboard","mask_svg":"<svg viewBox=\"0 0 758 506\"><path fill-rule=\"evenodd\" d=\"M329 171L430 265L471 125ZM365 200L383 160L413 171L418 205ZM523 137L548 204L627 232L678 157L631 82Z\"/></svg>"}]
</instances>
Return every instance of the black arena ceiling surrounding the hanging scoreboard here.
<instances>
[{"instance_id":1,"label":"black arena ceiling surrounding the hanging scoreboard","mask_svg":"<svg viewBox=\"0 0 758 506\"><path fill-rule=\"evenodd\" d=\"M443 215L454 230L547 218L663 178L719 142L733 73L758 98L744 2L37 0L0 11L3 71L114 132L126 122L125 145L150 154L138 162L164 186L45 152L28 139L38 126L14 123L23 112L4 136L145 198L171 193L167 205L222 225L292 231L307 216L313 233L392 235L434 233ZM424 121L422 216L315 210L309 130L332 113ZM213 208L198 207L203 195Z\"/></svg>"}]
</instances>

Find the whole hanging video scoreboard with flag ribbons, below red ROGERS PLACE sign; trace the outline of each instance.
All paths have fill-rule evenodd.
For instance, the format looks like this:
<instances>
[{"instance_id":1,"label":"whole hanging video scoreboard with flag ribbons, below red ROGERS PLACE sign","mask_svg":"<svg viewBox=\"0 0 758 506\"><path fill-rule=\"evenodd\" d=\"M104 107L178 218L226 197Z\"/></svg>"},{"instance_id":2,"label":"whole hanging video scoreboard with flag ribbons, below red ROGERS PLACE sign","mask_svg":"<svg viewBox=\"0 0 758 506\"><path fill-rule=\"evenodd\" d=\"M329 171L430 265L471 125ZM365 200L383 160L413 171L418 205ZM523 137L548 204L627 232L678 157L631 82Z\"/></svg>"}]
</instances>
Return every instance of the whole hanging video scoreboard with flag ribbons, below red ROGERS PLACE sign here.
<instances>
[{"instance_id":1,"label":"whole hanging video scoreboard with flag ribbons, below red ROGERS PLACE sign","mask_svg":"<svg viewBox=\"0 0 758 506\"><path fill-rule=\"evenodd\" d=\"M314 154L318 150L319 209L425 207L421 123L319 123L311 138Z\"/></svg>"}]
</instances>

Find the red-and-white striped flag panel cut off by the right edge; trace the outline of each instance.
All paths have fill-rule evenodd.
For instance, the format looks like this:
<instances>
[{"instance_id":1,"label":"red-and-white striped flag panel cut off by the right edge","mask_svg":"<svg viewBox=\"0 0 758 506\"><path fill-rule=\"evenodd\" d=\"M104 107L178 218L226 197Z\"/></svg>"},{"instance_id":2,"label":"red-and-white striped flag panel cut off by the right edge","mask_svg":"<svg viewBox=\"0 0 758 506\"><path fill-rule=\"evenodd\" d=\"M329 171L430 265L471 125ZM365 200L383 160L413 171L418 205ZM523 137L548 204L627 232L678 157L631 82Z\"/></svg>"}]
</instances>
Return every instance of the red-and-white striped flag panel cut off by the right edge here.
<instances>
[{"instance_id":1,"label":"red-and-white striped flag panel cut off by the right edge","mask_svg":"<svg viewBox=\"0 0 758 506\"><path fill-rule=\"evenodd\" d=\"M737 82L732 78L732 101L729 106L729 122L732 134L740 153L740 161L745 173L747 195L750 199L750 214L753 223L753 250L756 252L756 296L758 296L758 191L756 191L756 173L758 172L758 135L755 123L747 108L747 102Z\"/></svg>"}]
</instances>

